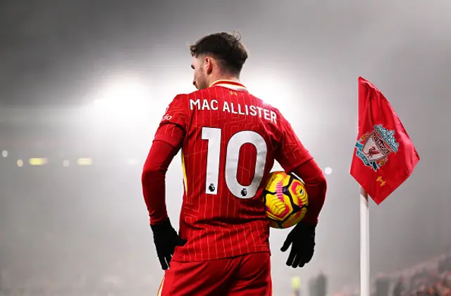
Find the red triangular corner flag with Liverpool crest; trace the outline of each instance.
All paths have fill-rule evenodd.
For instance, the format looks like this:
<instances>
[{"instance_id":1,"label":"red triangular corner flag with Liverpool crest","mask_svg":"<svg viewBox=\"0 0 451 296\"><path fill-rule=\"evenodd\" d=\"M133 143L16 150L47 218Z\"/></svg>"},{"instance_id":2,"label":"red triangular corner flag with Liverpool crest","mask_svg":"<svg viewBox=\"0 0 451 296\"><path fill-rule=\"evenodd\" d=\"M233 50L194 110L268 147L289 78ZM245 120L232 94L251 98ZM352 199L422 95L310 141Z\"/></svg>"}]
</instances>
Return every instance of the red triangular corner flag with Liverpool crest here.
<instances>
[{"instance_id":1,"label":"red triangular corner flag with Liverpool crest","mask_svg":"<svg viewBox=\"0 0 451 296\"><path fill-rule=\"evenodd\" d=\"M359 77L359 136L351 175L380 204L414 170L420 157L390 103Z\"/></svg>"}]
</instances>

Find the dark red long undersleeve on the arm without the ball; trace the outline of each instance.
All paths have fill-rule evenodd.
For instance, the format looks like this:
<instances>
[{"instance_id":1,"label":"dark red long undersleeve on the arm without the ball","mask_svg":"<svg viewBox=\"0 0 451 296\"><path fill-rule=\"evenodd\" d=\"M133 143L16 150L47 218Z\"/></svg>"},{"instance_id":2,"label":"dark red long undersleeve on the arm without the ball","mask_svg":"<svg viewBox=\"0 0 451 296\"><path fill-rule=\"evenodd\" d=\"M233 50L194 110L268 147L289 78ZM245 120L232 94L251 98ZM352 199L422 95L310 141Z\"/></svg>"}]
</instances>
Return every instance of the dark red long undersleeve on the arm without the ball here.
<instances>
[{"instance_id":1,"label":"dark red long undersleeve on the arm without the ball","mask_svg":"<svg viewBox=\"0 0 451 296\"><path fill-rule=\"evenodd\" d=\"M154 141L142 169L142 194L149 211L150 224L168 218L165 198L165 177L178 149L163 141Z\"/></svg>"}]
</instances>

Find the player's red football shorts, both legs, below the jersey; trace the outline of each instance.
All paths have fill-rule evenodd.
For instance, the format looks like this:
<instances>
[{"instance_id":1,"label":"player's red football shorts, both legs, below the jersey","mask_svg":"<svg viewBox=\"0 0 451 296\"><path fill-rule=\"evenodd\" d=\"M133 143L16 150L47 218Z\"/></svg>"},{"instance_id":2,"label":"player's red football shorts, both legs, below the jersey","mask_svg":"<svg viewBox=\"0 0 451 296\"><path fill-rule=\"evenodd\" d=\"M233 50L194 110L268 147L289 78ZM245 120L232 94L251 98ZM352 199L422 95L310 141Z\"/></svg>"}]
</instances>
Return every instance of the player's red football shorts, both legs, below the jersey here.
<instances>
[{"instance_id":1,"label":"player's red football shorts, both legs, below the jersey","mask_svg":"<svg viewBox=\"0 0 451 296\"><path fill-rule=\"evenodd\" d=\"M268 252L197 262L174 262L158 296L271 296Z\"/></svg>"}]
</instances>

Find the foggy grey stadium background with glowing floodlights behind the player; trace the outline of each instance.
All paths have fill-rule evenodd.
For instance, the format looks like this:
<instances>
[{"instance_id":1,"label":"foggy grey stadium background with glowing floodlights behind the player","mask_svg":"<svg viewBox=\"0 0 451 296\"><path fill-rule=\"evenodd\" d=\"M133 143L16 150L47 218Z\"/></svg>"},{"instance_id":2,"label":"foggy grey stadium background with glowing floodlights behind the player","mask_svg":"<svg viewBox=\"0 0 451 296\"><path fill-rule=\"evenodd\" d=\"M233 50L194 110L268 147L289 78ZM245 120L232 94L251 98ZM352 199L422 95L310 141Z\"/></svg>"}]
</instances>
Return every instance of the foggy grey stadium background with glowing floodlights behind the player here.
<instances>
[{"instance_id":1,"label":"foggy grey stadium background with glowing floodlights behind the player","mask_svg":"<svg viewBox=\"0 0 451 296\"><path fill-rule=\"evenodd\" d=\"M359 283L358 187L348 172L360 75L388 97L422 158L393 196L371 205L371 273L448 252L450 10L416 0L1 1L1 289L156 291L142 163L166 105L193 90L186 42L222 30L240 30L250 51L242 82L332 168L309 266L288 269L278 251L286 232L271 233L275 295L290 293L291 276L307 289L320 271L329 292ZM47 165L30 166L33 157ZM176 219L178 161L167 180Z\"/></svg>"}]
</instances>

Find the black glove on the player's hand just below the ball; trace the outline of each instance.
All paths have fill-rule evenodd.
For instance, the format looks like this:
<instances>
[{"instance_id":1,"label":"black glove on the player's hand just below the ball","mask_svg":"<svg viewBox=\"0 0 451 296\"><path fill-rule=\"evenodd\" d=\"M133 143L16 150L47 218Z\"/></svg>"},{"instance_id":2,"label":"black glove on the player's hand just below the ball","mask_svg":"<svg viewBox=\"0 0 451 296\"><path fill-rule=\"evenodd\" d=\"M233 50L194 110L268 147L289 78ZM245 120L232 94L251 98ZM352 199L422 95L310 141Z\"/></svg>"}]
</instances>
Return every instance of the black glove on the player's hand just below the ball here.
<instances>
[{"instance_id":1,"label":"black glove on the player's hand just below the ball","mask_svg":"<svg viewBox=\"0 0 451 296\"><path fill-rule=\"evenodd\" d=\"M315 250L315 225L298 223L290 233L280 251L285 252L291 246L287 265L296 268L309 263Z\"/></svg>"}]
</instances>

